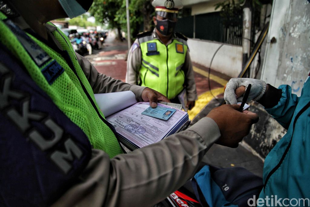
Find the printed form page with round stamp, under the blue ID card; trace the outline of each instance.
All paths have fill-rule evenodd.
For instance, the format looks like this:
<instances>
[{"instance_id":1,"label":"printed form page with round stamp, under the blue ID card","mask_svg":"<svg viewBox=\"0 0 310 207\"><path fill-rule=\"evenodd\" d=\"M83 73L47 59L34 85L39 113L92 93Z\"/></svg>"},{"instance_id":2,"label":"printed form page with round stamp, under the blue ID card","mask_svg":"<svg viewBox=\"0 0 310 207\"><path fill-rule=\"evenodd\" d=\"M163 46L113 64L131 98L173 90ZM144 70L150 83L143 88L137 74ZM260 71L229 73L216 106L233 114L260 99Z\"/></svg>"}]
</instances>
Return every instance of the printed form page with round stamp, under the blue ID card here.
<instances>
[{"instance_id":1,"label":"printed form page with round stamp, under the blue ID card","mask_svg":"<svg viewBox=\"0 0 310 207\"><path fill-rule=\"evenodd\" d=\"M117 133L126 137L139 147L144 147L162 140L187 113L177 110L168 120L153 118L141 113L149 107L148 102L139 102L118 113L107 117ZM165 106L158 104L158 106Z\"/></svg>"}]
</instances>

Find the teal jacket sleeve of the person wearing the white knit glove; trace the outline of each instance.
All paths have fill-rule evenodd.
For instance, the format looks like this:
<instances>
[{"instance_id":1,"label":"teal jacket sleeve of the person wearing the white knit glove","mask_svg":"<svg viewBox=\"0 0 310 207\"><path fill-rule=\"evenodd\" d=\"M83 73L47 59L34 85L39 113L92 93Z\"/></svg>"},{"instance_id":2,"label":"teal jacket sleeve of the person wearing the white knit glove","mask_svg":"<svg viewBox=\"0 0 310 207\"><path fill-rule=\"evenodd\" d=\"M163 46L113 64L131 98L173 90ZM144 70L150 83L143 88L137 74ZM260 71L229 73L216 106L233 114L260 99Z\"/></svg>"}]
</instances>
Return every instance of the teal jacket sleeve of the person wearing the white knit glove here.
<instances>
[{"instance_id":1,"label":"teal jacket sleeve of the person wearing the white knit glove","mask_svg":"<svg viewBox=\"0 0 310 207\"><path fill-rule=\"evenodd\" d=\"M281 85L279 89L282 90L280 101L276 106L265 110L284 128L288 128L300 97L292 93L289 85Z\"/></svg>"}]
</instances>

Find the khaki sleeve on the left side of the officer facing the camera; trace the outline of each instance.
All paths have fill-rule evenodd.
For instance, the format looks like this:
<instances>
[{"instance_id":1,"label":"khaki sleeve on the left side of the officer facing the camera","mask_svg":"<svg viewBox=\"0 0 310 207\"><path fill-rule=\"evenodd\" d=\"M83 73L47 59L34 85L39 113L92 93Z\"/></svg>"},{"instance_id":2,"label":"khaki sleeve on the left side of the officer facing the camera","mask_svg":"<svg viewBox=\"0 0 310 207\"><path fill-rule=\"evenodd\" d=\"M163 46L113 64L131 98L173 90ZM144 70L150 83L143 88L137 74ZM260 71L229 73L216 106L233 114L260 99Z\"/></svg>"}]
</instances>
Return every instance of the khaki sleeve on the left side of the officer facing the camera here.
<instances>
[{"instance_id":1,"label":"khaki sleeve on the left side of the officer facing the camera","mask_svg":"<svg viewBox=\"0 0 310 207\"><path fill-rule=\"evenodd\" d=\"M126 83L138 84L141 61L140 44L136 39L128 52Z\"/></svg>"}]
</instances>

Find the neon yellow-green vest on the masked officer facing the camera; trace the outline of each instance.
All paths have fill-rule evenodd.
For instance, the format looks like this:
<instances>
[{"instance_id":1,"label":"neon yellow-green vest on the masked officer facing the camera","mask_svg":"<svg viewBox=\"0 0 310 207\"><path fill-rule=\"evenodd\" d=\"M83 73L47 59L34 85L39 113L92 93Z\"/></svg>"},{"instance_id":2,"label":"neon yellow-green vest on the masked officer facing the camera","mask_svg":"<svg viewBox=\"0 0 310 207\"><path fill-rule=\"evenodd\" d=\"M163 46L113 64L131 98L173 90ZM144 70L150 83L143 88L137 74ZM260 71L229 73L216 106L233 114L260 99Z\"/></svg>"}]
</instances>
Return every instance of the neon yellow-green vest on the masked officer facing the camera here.
<instances>
[{"instance_id":1,"label":"neon yellow-green vest on the masked officer facing the camera","mask_svg":"<svg viewBox=\"0 0 310 207\"><path fill-rule=\"evenodd\" d=\"M188 49L186 41L174 38L166 46L152 35L138 40L142 52L141 86L152 88L169 99L175 98L184 89L182 66Z\"/></svg>"}]
</instances>

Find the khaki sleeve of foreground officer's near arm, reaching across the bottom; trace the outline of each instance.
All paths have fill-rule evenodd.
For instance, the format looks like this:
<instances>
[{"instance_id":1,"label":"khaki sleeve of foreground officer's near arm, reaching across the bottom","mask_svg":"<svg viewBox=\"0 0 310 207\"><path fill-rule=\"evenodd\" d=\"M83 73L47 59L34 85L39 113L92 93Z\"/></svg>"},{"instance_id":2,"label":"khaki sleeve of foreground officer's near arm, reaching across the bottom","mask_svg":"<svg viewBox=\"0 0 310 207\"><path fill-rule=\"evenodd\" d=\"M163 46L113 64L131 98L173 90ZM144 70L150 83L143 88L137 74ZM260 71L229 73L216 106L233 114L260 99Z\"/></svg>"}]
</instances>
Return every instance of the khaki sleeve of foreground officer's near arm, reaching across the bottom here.
<instances>
[{"instance_id":1,"label":"khaki sleeve of foreground officer's near arm, reaching across the bottom","mask_svg":"<svg viewBox=\"0 0 310 207\"><path fill-rule=\"evenodd\" d=\"M79 180L54 206L153 206L193 176L219 137L217 124L203 118L186 131L111 160L93 150Z\"/></svg>"}]
</instances>

